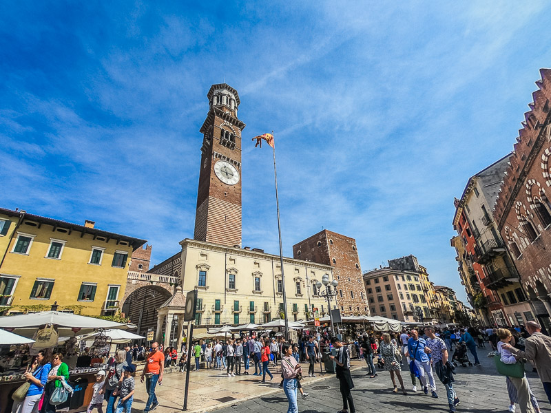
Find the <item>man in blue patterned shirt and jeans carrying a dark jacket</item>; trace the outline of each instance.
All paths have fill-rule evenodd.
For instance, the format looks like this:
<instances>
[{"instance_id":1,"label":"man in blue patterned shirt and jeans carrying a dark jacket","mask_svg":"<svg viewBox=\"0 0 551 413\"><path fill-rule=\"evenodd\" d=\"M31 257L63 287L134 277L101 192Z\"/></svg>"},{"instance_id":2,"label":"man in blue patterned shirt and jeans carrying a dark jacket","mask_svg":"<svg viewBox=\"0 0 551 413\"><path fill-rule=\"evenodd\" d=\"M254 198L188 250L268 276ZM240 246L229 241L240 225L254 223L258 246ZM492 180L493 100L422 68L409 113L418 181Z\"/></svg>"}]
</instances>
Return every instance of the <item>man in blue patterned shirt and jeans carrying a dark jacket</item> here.
<instances>
[{"instance_id":1,"label":"man in blue patterned shirt and jeans carrying a dark jacket","mask_svg":"<svg viewBox=\"0 0 551 413\"><path fill-rule=\"evenodd\" d=\"M453 413L455 412L455 406L461 402L457 399L457 394L455 394L453 388L453 370L450 365L446 365L448 362L448 348L446 348L446 343L442 339L436 337L434 327L425 328L425 333L428 337L425 352L432 356L430 363L435 368L436 375L442 384L446 386L450 413Z\"/></svg>"}]
</instances>

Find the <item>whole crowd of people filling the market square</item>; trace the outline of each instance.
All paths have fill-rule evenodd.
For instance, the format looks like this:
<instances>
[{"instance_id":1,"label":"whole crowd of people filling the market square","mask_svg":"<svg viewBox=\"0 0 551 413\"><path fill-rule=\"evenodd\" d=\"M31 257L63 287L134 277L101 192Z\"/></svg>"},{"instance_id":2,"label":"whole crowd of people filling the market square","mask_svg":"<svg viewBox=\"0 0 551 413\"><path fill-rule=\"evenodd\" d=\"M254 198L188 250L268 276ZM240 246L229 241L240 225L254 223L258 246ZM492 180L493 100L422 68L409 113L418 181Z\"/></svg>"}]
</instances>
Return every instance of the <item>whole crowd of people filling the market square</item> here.
<instances>
[{"instance_id":1,"label":"whole crowd of people filling the market square","mask_svg":"<svg viewBox=\"0 0 551 413\"><path fill-rule=\"evenodd\" d=\"M183 341L183 343L185 343ZM211 342L196 341L191 346L193 370L202 366L206 369L223 371L227 377L250 374L259 378L259 383L272 381L270 368L280 366L280 388L289 401L289 413L298 412L298 393L302 399L308 396L304 392L301 363L308 365L309 377L315 377L315 364L320 361L326 348L335 349L337 379L342 394L342 410L339 413L354 413L355 406L351 389L354 383L350 374L352 357L363 359L371 379L378 377L377 370L387 371L393 385L393 392L408 394L408 391L422 391L424 394L438 398L436 379L446 390L449 411L455 412L461 403L453 388L455 368L472 366L468 352L473 357L474 366L480 364L477 349L490 350L489 356L496 357L498 372L506 376L503 391L508 392L509 412L515 412L515 405L522 413L539 413L540 407L524 374L525 361L530 361L537 369L543 388L551 403L551 338L541 333L541 326L529 321L525 326L514 328L434 328L402 330L393 332L357 332L356 338L346 345L329 332L321 335L308 334L297 342L284 341L283 337L268 335L242 335L236 339L214 340ZM353 351L351 351L351 349ZM141 382L145 381L147 403L144 412L155 410L158 399L156 386L163 382L163 373L169 366L178 366L184 372L188 364L186 346L182 346L178 361L178 350L174 347L163 349L158 343L149 348L127 346L118 350L108 362L105 370L96 374L92 401L87 413L94 409L103 413L106 402L106 413L129 413L134 395L134 361L145 362L141 372ZM330 354L330 352L326 352ZM191 362L191 359L189 360ZM502 363L503 370L500 370ZM410 375L411 388L406 389L404 372ZM30 383L23 400L14 403L12 413L54 413L56 406L50 398L56 388L69 379L67 365L63 363L63 354L51 354L41 350L35 357L32 367L25 373Z\"/></svg>"}]
</instances>

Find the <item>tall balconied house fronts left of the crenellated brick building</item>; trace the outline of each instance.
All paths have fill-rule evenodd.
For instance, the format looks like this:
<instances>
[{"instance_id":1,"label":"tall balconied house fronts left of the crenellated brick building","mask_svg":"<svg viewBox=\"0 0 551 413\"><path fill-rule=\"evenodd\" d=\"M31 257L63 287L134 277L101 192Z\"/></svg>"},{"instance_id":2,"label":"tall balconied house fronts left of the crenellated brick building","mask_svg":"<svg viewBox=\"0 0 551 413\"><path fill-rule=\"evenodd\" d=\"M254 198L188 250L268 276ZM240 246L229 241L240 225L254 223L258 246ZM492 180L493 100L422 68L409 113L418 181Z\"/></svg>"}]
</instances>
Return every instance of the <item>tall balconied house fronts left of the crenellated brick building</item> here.
<instances>
[{"instance_id":1,"label":"tall balconied house fronts left of the crenellated brick building","mask_svg":"<svg viewBox=\"0 0 551 413\"><path fill-rule=\"evenodd\" d=\"M472 273L469 281L479 286L477 295L468 298L491 326L515 326L534 319L517 268L491 215L508 158L469 178L461 199L455 202L454 228L468 250L461 259Z\"/></svg>"}]
</instances>

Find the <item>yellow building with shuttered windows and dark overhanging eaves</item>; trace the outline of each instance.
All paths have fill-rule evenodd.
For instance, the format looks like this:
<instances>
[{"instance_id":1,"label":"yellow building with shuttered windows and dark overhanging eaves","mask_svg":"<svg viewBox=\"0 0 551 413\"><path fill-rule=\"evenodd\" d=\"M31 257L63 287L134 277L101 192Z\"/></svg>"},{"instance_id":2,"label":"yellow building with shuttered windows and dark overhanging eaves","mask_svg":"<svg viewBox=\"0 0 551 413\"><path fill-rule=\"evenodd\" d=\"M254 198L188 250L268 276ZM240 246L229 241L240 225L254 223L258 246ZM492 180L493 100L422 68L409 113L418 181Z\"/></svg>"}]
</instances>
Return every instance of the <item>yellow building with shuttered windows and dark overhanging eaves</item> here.
<instances>
[{"instance_id":1,"label":"yellow building with shuttered windows and dark overhanging eaves","mask_svg":"<svg viewBox=\"0 0 551 413\"><path fill-rule=\"evenodd\" d=\"M25 211L0 209L0 310L114 315L129 256L145 244L127 235Z\"/></svg>"}]
</instances>

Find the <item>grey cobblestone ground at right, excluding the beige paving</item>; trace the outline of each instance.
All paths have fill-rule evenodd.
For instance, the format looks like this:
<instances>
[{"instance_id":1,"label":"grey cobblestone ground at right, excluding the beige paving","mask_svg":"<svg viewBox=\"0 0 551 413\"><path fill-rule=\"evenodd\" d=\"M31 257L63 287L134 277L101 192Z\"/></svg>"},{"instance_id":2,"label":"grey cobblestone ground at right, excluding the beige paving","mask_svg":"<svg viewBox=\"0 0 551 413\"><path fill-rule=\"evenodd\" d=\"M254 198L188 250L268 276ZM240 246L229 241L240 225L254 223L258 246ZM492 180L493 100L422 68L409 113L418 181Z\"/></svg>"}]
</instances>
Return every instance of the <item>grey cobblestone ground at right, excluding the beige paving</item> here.
<instances>
[{"instance_id":1,"label":"grey cobblestone ground at right, excluding the beige paving","mask_svg":"<svg viewBox=\"0 0 551 413\"><path fill-rule=\"evenodd\" d=\"M472 366L456 369L455 390L461 400L457 412L507 412L509 401L505 377L497 374L492 359L486 357L488 349L479 352L482 366ZM438 379L437 393L439 399L433 399L430 394L411 392L411 381L408 371L404 371L404 384L408 395L393 393L393 386L388 372L379 372L378 377L370 379L366 369L352 372L355 388L352 390L356 411L360 412L448 412L446 390ZM537 374L528 373L532 392L539 401L542 412L551 412L548 399ZM304 386L309 392L307 399L299 399L298 410L301 413L335 413L342 408L339 383L333 376L329 379ZM287 399L283 391L254 399L243 401L217 410L219 413L247 412L287 412ZM517 412L520 412L517 406Z\"/></svg>"}]
</instances>

